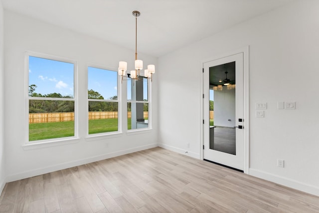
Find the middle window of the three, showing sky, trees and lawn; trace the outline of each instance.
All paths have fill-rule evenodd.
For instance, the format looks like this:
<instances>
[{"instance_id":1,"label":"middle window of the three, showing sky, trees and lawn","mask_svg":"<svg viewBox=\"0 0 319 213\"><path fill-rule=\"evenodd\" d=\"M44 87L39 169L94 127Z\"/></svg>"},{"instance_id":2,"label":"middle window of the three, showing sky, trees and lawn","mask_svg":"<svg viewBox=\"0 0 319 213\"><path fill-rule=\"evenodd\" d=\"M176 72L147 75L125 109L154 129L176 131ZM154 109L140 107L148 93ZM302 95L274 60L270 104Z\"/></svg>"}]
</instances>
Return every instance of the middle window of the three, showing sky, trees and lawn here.
<instances>
[{"instance_id":1,"label":"middle window of the three, showing sky, trees and lawn","mask_svg":"<svg viewBox=\"0 0 319 213\"><path fill-rule=\"evenodd\" d=\"M118 73L88 67L89 135L119 130Z\"/></svg>"}]
</instances>

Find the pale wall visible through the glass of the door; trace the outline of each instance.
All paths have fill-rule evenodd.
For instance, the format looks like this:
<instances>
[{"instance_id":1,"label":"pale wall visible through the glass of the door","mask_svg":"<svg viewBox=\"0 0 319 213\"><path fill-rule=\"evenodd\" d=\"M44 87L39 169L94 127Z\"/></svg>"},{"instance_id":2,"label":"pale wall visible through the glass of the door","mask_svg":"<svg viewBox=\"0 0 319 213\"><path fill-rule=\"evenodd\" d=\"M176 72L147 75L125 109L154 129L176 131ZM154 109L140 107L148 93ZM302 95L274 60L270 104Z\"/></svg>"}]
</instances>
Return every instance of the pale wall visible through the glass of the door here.
<instances>
[{"instance_id":1,"label":"pale wall visible through the glass of the door","mask_svg":"<svg viewBox=\"0 0 319 213\"><path fill-rule=\"evenodd\" d=\"M222 91L214 91L214 126L234 127L236 125L235 91L226 87L223 87Z\"/></svg>"}]
</instances>

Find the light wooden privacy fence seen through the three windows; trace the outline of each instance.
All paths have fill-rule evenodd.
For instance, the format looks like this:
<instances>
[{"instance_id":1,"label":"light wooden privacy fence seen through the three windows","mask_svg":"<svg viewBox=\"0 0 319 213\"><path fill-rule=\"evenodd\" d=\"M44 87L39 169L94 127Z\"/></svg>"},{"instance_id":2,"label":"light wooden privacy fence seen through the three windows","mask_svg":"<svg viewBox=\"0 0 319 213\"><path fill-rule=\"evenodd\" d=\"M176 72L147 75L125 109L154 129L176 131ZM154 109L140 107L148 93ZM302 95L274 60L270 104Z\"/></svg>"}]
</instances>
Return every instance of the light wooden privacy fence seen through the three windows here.
<instances>
[{"instance_id":1,"label":"light wooden privacy fence seen through the three windows","mask_svg":"<svg viewBox=\"0 0 319 213\"><path fill-rule=\"evenodd\" d=\"M149 112L144 112L144 118L149 117ZM89 112L89 120L118 118L118 112ZM131 112L128 112L131 118ZM57 113L29 113L29 124L74 121L74 112Z\"/></svg>"}]
</instances>

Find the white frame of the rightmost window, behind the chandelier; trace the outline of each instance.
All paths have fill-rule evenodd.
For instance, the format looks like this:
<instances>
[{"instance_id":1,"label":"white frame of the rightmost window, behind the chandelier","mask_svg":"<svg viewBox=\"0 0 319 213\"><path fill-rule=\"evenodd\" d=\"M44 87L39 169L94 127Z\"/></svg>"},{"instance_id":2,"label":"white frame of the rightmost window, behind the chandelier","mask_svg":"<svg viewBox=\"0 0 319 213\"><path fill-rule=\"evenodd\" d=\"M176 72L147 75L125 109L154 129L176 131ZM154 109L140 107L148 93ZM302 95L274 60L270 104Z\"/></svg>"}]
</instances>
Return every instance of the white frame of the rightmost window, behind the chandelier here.
<instances>
[{"instance_id":1,"label":"white frame of the rightmost window, behind the chandelier","mask_svg":"<svg viewBox=\"0 0 319 213\"><path fill-rule=\"evenodd\" d=\"M134 80L131 80L131 83L133 83ZM127 116L127 121L128 121L128 103L131 103L131 106L132 106L132 103L147 103L149 104L149 115L148 115L148 127L147 128L139 128L139 129L130 129L129 130L129 126L128 126L128 122L127 122L127 125L126 125L126 130L127 130L127 133L128 134L133 134L135 132L141 132L141 131L150 131L152 130L152 80L150 78L147 78L147 81L148 81L148 100L147 101L132 101L132 100L128 100L128 95L126 97L126 116ZM128 84L126 84L128 85ZM128 91L128 89L126 89L126 91ZM132 113L132 111L131 111Z\"/></svg>"}]
</instances>

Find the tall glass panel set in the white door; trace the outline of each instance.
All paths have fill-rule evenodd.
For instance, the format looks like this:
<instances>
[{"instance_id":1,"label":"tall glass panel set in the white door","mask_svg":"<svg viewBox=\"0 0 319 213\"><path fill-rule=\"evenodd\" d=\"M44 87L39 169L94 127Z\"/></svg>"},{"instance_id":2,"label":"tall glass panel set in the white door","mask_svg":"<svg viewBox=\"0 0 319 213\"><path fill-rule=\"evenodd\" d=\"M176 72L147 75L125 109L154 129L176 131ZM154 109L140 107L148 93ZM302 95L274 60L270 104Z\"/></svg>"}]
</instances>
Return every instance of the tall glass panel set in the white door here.
<instances>
[{"instance_id":1,"label":"tall glass panel set in the white door","mask_svg":"<svg viewBox=\"0 0 319 213\"><path fill-rule=\"evenodd\" d=\"M236 155L235 61L209 67L209 149Z\"/></svg>"}]
</instances>

